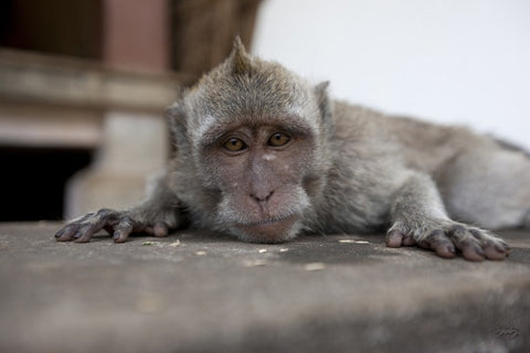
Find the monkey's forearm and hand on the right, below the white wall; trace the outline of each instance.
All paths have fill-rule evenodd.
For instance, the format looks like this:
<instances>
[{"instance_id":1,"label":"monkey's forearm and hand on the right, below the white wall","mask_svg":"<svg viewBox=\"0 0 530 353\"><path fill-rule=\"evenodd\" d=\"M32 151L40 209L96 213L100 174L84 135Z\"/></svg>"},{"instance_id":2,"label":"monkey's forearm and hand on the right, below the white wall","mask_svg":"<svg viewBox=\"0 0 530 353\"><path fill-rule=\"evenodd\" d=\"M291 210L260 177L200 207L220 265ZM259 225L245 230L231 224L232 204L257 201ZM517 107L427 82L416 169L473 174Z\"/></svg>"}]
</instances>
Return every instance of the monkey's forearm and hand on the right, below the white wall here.
<instances>
[{"instance_id":1,"label":"monkey's forearm and hand on the right, below the white wall","mask_svg":"<svg viewBox=\"0 0 530 353\"><path fill-rule=\"evenodd\" d=\"M433 249L454 257L456 249L468 260L502 259L509 246L491 233L452 221L432 179L413 174L396 192L391 205L391 227L386 245ZM455 249L456 247L456 249Z\"/></svg>"}]
</instances>

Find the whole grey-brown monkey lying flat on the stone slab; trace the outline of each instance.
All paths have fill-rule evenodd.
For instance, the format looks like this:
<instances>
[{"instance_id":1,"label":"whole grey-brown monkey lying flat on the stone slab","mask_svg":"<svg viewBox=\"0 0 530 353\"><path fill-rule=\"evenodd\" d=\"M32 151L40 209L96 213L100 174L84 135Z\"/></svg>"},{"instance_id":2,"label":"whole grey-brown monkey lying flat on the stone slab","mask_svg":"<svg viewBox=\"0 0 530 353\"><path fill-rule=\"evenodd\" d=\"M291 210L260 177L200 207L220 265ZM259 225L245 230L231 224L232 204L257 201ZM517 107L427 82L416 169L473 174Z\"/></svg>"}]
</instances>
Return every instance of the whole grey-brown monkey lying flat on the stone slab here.
<instances>
[{"instance_id":1,"label":"whole grey-brown monkey lying flat on the stone slab","mask_svg":"<svg viewBox=\"0 0 530 353\"><path fill-rule=\"evenodd\" d=\"M470 260L508 254L477 226L530 223L527 156L464 128L332 101L326 86L250 56L236 41L229 60L168 109L177 152L150 196L75 220L57 239L88 242L106 228L121 243L131 232L162 236L189 225L276 243L390 227L392 247L459 250Z\"/></svg>"}]
</instances>

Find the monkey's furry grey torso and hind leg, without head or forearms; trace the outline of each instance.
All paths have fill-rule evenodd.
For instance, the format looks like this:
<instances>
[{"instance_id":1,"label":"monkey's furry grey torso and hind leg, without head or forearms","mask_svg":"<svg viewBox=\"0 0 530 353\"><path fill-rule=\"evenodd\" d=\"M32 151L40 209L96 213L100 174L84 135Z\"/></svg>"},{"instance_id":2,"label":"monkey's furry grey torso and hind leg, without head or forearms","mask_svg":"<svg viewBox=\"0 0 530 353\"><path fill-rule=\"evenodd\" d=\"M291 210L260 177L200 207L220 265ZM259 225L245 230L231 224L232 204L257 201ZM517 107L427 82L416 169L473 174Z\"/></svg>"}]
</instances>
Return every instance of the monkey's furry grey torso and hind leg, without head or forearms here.
<instances>
[{"instance_id":1,"label":"monkey's furry grey torso and hind leg, without head or forearms","mask_svg":"<svg viewBox=\"0 0 530 353\"><path fill-rule=\"evenodd\" d=\"M492 229L528 224L530 159L524 152L463 127L384 116L342 101L335 104L333 117L332 176L327 202L308 220L311 228L388 227L389 201L412 174L433 179L453 220Z\"/></svg>"}]
</instances>

